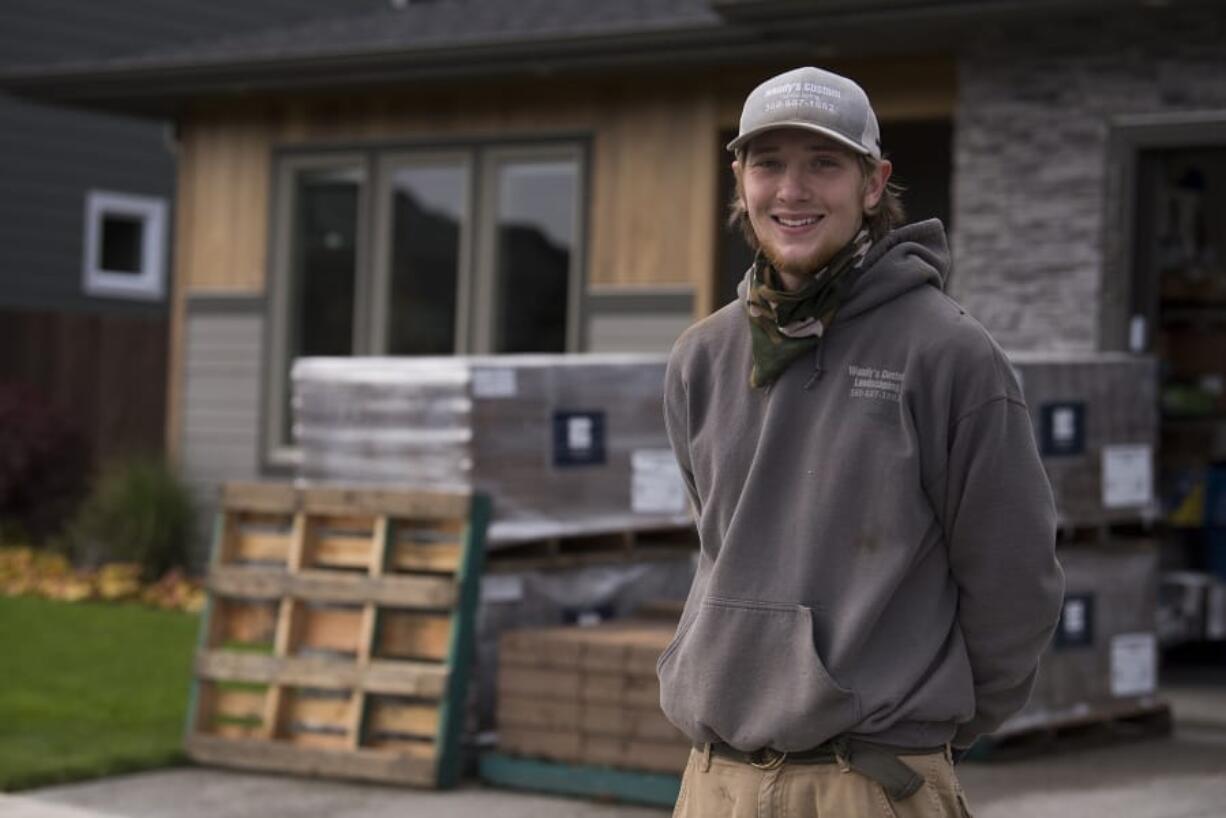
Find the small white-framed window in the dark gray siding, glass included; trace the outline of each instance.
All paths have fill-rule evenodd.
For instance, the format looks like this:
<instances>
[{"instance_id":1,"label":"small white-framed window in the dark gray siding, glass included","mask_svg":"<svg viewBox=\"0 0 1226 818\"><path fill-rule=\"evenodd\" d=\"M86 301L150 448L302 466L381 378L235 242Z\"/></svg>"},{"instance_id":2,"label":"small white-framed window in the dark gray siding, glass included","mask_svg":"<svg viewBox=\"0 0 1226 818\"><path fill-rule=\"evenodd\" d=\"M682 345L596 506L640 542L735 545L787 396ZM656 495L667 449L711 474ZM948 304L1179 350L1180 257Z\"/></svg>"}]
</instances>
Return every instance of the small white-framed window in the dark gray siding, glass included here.
<instances>
[{"instance_id":1,"label":"small white-framed window in the dark gray siding, glass included","mask_svg":"<svg viewBox=\"0 0 1226 818\"><path fill-rule=\"evenodd\" d=\"M166 292L166 200L91 190L86 195L85 291L159 300Z\"/></svg>"}]
</instances>

